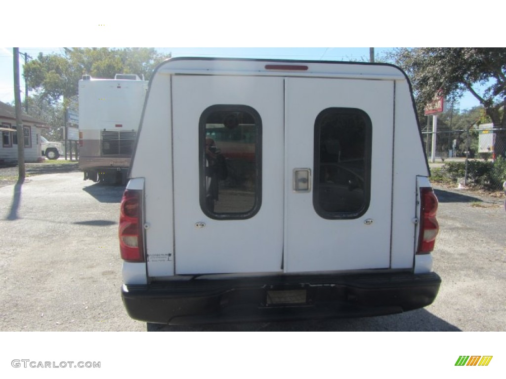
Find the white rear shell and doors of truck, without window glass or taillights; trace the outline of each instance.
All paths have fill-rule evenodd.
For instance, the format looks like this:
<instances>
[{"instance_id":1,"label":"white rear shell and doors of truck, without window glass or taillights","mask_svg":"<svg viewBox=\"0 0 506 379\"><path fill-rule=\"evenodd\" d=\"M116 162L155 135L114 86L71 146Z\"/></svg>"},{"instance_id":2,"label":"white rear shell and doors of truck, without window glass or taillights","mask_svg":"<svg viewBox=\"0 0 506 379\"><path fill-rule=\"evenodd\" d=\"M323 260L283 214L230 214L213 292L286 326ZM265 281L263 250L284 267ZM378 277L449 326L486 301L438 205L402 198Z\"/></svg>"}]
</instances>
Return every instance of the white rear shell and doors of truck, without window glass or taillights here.
<instances>
[{"instance_id":1,"label":"white rear shell and doors of truck, without window glass or taillights","mask_svg":"<svg viewBox=\"0 0 506 379\"><path fill-rule=\"evenodd\" d=\"M199 200L199 123L220 105L250 107L261 119L261 199L251 217L209 217ZM369 198L356 217L315 210L315 120L327 109L370 120ZM413 269L426 162L409 83L394 66L168 60L151 80L130 171L143 178L147 276ZM301 172L307 189L294 191Z\"/></svg>"}]
</instances>

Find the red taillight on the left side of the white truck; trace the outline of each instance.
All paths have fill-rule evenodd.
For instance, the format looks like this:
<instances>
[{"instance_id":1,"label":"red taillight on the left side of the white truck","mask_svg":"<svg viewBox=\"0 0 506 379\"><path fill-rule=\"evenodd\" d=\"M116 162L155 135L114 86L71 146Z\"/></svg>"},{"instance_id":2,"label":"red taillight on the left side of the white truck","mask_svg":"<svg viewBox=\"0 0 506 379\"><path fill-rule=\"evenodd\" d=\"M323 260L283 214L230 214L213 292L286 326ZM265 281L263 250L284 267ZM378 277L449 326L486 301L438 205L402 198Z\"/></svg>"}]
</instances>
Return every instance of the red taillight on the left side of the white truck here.
<instances>
[{"instance_id":1,"label":"red taillight on the left side of the white truck","mask_svg":"<svg viewBox=\"0 0 506 379\"><path fill-rule=\"evenodd\" d=\"M127 189L121 199L119 251L121 259L128 262L144 262L141 194L141 191Z\"/></svg>"}]
</instances>

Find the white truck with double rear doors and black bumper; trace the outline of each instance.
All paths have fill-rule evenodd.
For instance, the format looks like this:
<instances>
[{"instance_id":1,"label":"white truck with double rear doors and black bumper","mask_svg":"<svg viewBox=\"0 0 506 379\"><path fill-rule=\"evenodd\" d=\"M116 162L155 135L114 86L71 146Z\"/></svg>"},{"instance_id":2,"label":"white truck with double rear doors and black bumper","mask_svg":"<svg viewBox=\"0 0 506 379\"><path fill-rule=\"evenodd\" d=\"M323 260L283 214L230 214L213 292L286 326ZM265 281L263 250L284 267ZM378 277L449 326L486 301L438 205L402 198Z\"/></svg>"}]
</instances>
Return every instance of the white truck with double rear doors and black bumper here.
<instances>
[{"instance_id":1,"label":"white truck with double rear doors and black bumper","mask_svg":"<svg viewBox=\"0 0 506 379\"><path fill-rule=\"evenodd\" d=\"M167 60L121 201L124 306L148 325L427 306L428 176L395 66Z\"/></svg>"}]
</instances>

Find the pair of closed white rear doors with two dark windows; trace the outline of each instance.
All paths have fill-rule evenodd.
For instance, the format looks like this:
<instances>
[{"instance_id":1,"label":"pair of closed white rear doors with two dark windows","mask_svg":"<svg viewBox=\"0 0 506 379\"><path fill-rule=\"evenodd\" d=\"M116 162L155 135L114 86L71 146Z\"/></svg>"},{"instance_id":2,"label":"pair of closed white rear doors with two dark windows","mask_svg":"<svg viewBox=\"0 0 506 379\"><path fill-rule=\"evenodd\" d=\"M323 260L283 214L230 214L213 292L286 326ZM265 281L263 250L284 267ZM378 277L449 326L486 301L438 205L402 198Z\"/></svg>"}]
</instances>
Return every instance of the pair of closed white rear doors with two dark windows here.
<instances>
[{"instance_id":1,"label":"pair of closed white rear doors with two dark windows","mask_svg":"<svg viewBox=\"0 0 506 379\"><path fill-rule=\"evenodd\" d=\"M173 77L177 274L390 267L394 83Z\"/></svg>"}]
</instances>

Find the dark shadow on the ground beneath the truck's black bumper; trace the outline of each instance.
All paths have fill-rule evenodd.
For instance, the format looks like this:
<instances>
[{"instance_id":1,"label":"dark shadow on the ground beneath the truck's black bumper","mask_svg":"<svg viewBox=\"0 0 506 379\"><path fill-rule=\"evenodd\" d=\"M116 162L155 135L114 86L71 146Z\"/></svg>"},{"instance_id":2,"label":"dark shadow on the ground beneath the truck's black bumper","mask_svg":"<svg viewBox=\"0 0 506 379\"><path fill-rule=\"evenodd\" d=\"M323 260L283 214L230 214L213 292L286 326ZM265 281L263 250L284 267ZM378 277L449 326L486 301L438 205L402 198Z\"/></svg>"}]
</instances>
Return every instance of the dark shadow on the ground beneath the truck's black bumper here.
<instances>
[{"instance_id":1,"label":"dark shadow on the ground beneath the truck's black bumper","mask_svg":"<svg viewBox=\"0 0 506 379\"><path fill-rule=\"evenodd\" d=\"M461 331L426 309L378 317L308 321L166 325L159 331Z\"/></svg>"}]
</instances>

